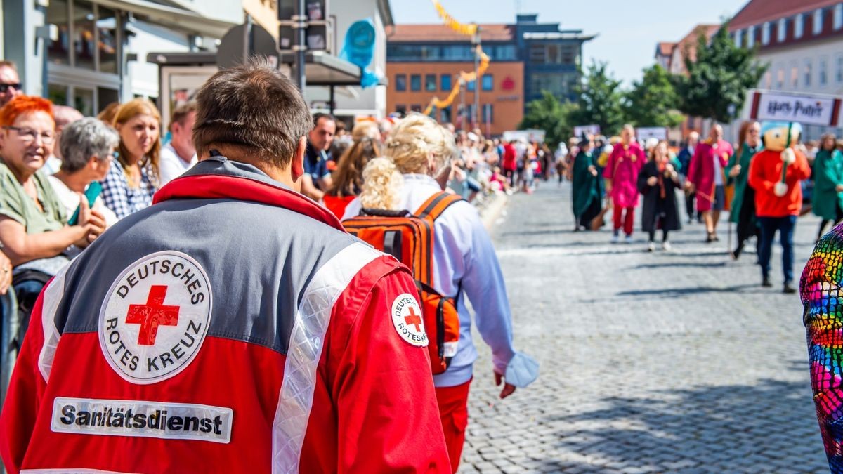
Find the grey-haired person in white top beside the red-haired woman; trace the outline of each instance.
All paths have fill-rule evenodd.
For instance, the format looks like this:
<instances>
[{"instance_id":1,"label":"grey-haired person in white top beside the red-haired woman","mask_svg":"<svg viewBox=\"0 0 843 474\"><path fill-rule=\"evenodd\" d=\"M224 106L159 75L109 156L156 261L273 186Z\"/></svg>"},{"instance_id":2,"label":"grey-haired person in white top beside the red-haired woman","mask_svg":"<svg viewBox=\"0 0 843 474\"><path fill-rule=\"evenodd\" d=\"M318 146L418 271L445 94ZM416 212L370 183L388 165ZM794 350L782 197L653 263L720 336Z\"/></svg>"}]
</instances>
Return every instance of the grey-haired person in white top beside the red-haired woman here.
<instances>
[{"instance_id":1,"label":"grey-haired person in white top beside the red-haired woman","mask_svg":"<svg viewBox=\"0 0 843 474\"><path fill-rule=\"evenodd\" d=\"M93 117L64 127L59 142L62 168L48 179L67 210L67 216L76 211L79 200L93 181L105 179L118 144L120 136L115 129ZM99 186L99 183L94 186ZM97 197L91 208L103 214L108 227L118 220L115 213L105 207L102 197Z\"/></svg>"}]
</instances>

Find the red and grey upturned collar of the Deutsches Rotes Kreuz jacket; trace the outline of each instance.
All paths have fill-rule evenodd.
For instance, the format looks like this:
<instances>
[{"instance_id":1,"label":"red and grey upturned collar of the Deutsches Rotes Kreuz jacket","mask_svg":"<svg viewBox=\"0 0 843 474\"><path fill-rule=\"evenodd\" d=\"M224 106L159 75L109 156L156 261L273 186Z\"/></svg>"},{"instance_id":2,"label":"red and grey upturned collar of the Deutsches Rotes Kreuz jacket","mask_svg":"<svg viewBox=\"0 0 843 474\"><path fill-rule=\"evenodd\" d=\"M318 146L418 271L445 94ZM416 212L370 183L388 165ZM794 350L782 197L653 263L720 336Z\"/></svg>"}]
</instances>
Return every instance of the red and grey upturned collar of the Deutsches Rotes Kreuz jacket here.
<instances>
[{"instance_id":1,"label":"red and grey upturned collar of the Deutsches Rotes Kreuz jacket","mask_svg":"<svg viewBox=\"0 0 843 474\"><path fill-rule=\"evenodd\" d=\"M340 220L325 207L271 179L255 166L223 156L205 159L164 185L155 193L153 204L170 199L219 198L284 207L345 232Z\"/></svg>"}]
</instances>

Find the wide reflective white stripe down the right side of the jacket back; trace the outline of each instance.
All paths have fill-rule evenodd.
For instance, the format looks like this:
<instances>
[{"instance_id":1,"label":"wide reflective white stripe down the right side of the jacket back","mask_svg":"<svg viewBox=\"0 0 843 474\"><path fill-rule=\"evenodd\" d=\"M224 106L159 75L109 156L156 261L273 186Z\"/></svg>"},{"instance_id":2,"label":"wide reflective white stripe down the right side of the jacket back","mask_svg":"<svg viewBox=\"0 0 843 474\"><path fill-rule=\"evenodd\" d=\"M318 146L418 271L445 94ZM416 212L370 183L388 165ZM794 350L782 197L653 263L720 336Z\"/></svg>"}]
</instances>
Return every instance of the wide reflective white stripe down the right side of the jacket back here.
<instances>
[{"instance_id":1,"label":"wide reflective white stripe down the right side of the jacket back","mask_svg":"<svg viewBox=\"0 0 843 474\"><path fill-rule=\"evenodd\" d=\"M284 381L272 423L273 474L298 472L313 406L316 366L322 356L331 310L357 272L382 255L362 243L349 245L319 268L304 292L290 335Z\"/></svg>"}]
</instances>

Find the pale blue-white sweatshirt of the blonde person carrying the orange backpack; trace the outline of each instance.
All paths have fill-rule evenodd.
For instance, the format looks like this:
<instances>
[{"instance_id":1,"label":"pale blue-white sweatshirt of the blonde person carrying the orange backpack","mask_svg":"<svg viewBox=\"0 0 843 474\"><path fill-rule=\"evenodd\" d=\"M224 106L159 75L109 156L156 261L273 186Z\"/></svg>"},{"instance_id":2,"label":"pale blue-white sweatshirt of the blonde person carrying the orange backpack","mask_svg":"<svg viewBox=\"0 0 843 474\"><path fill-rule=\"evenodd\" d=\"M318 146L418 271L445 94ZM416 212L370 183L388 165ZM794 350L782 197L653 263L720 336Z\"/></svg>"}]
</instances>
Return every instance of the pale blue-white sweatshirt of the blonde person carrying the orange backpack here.
<instances>
[{"instance_id":1,"label":"pale blue-white sweatshirt of the blonde person carrying the orange backpack","mask_svg":"<svg viewBox=\"0 0 843 474\"><path fill-rule=\"evenodd\" d=\"M400 208L415 213L438 191L442 188L430 176L404 175ZM359 213L360 200L355 198L346 207L343 218L352 218ZM454 203L436 219L433 239L433 288L451 298L459 293L457 355L451 359L445 373L433 376L434 385L450 387L471 380L477 349L471 342L471 313L465 297L475 311L477 331L491 347L495 369L506 374L507 364L516 352L512 315L495 247L480 214L469 202Z\"/></svg>"}]
</instances>

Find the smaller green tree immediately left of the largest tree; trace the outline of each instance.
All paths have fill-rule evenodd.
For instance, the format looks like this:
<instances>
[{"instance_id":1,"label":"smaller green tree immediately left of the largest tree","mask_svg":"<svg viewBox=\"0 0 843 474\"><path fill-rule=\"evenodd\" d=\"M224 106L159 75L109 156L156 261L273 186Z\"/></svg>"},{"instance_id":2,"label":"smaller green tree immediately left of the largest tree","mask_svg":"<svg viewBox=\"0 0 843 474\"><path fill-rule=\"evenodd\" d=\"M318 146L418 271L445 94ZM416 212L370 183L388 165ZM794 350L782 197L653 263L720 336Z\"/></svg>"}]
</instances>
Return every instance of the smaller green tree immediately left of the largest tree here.
<instances>
[{"instance_id":1,"label":"smaller green tree immediately left of the largest tree","mask_svg":"<svg viewBox=\"0 0 843 474\"><path fill-rule=\"evenodd\" d=\"M671 75L658 64L644 69L644 77L632 83L624 108L636 127L676 127L683 121Z\"/></svg>"}]
</instances>

